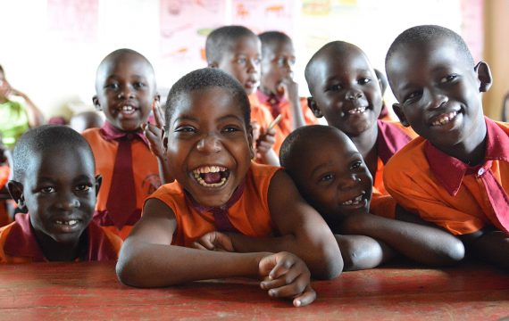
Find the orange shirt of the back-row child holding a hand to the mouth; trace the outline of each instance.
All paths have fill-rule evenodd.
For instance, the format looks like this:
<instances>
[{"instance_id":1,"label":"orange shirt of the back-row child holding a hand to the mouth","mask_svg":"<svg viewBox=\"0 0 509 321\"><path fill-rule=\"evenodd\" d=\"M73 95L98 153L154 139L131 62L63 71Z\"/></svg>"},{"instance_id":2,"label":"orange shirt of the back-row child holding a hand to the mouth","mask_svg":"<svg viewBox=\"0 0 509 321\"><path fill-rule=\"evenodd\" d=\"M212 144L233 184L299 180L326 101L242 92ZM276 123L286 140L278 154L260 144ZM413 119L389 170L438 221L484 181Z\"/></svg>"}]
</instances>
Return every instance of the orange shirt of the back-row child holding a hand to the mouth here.
<instances>
[{"instance_id":1,"label":"orange shirt of the back-row child holding a hand to the mouth","mask_svg":"<svg viewBox=\"0 0 509 321\"><path fill-rule=\"evenodd\" d=\"M283 136L288 136L293 131L292 130L292 107L290 106L290 102L287 97L284 95L281 97L269 96L265 95L263 91L257 90L256 96L260 103L263 103L269 111L271 111L272 118L278 117L281 115L282 119L280 121L279 127L281 129L281 133ZM302 109L302 114L304 116L306 125L317 125L318 119L313 114L313 111L307 106L307 98L300 97L299 98L300 108Z\"/></svg>"}]
</instances>

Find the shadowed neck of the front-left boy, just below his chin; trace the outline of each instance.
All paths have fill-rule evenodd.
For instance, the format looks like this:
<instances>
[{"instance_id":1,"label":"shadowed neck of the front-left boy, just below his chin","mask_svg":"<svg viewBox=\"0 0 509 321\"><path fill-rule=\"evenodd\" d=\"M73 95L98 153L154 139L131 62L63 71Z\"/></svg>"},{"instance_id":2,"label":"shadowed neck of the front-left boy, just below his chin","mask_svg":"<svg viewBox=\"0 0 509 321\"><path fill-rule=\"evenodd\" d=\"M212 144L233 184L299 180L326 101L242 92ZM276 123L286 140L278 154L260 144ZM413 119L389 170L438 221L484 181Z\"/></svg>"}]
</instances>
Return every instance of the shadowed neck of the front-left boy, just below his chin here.
<instances>
[{"instance_id":1,"label":"shadowed neck of the front-left boy, just below his chin","mask_svg":"<svg viewBox=\"0 0 509 321\"><path fill-rule=\"evenodd\" d=\"M73 243L58 243L50 236L42 233L35 232L38 244L44 254L44 257L49 261L73 261L79 258L79 245L83 235Z\"/></svg>"}]
</instances>

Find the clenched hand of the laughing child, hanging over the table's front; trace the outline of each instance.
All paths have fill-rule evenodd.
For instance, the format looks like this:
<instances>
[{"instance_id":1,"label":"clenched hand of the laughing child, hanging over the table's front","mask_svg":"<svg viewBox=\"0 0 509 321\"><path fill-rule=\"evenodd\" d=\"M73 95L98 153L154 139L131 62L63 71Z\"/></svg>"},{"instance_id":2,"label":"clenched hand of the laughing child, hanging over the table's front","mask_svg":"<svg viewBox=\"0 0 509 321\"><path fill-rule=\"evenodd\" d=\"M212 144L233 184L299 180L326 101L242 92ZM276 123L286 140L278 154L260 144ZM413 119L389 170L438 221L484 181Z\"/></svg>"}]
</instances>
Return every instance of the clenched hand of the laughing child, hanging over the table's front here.
<instances>
[{"instance_id":1,"label":"clenched hand of the laughing child, hanging over the table's front","mask_svg":"<svg viewBox=\"0 0 509 321\"><path fill-rule=\"evenodd\" d=\"M311 287L311 273L302 259L289 252L271 254L260 260L260 276L265 280L260 284L269 290L273 298L292 298L295 307L303 307L316 299Z\"/></svg>"}]
</instances>

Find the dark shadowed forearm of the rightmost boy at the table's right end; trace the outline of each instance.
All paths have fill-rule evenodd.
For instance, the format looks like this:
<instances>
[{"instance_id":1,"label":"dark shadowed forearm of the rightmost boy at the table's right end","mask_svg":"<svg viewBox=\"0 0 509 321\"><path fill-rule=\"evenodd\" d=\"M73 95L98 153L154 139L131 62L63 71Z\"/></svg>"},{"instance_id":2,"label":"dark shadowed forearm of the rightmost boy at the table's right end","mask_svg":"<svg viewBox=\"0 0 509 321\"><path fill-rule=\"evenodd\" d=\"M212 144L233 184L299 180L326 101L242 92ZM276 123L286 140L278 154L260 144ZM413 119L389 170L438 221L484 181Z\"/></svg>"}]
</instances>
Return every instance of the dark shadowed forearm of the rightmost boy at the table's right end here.
<instances>
[{"instance_id":1,"label":"dark shadowed forearm of the rightmost boy at the table's right end","mask_svg":"<svg viewBox=\"0 0 509 321\"><path fill-rule=\"evenodd\" d=\"M460 236L467 251L500 268L509 268L509 236L502 231L480 230Z\"/></svg>"}]
</instances>

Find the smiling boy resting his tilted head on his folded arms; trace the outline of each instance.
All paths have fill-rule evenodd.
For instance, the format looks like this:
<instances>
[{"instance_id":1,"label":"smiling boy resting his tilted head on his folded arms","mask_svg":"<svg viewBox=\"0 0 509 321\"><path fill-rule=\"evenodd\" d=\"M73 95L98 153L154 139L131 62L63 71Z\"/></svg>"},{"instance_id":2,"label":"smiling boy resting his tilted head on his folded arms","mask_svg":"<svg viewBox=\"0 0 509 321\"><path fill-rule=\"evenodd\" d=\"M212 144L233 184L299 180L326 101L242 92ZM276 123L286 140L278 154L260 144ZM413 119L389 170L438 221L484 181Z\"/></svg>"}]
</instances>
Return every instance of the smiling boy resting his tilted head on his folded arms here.
<instances>
[{"instance_id":1,"label":"smiling boy resting his tilted head on his folded arms","mask_svg":"<svg viewBox=\"0 0 509 321\"><path fill-rule=\"evenodd\" d=\"M374 268L395 254L430 266L463 259L463 243L453 235L370 213L371 174L338 128L297 128L281 146L280 161L330 226L346 270Z\"/></svg>"}]
</instances>

